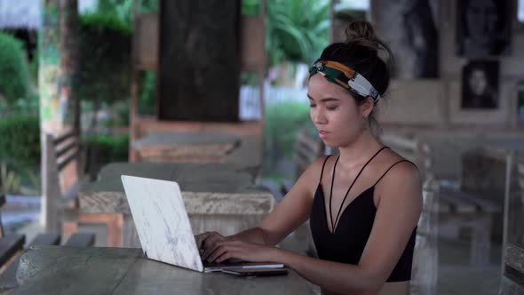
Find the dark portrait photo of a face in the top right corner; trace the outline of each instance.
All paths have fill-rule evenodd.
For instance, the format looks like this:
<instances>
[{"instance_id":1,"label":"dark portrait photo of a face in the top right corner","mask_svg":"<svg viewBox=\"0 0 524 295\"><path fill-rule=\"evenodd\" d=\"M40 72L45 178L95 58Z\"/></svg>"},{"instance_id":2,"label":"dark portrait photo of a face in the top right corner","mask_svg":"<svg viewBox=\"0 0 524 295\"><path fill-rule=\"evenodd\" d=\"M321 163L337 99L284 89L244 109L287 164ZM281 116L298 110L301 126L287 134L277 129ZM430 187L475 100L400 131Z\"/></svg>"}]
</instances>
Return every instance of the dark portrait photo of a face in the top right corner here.
<instances>
[{"instance_id":1,"label":"dark portrait photo of a face in the top right corner","mask_svg":"<svg viewBox=\"0 0 524 295\"><path fill-rule=\"evenodd\" d=\"M508 55L511 4L509 0L457 1L457 54L469 58Z\"/></svg>"}]
</instances>

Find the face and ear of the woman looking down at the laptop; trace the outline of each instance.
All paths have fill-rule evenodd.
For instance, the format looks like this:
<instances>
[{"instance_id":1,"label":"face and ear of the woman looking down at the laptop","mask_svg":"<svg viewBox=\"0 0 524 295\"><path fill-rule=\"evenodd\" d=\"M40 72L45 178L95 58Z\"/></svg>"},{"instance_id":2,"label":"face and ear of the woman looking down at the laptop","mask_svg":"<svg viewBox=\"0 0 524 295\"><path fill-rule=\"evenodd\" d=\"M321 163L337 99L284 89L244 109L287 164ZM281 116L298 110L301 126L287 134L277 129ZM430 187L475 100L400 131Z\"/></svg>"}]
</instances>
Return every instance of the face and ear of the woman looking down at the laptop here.
<instances>
[{"instance_id":1,"label":"face and ear of the woman looking down at the laptop","mask_svg":"<svg viewBox=\"0 0 524 295\"><path fill-rule=\"evenodd\" d=\"M369 103L357 106L350 92L320 74L309 79L307 96L311 120L329 147L344 147L356 140L363 131L363 116L373 109L372 102L370 107Z\"/></svg>"}]
</instances>

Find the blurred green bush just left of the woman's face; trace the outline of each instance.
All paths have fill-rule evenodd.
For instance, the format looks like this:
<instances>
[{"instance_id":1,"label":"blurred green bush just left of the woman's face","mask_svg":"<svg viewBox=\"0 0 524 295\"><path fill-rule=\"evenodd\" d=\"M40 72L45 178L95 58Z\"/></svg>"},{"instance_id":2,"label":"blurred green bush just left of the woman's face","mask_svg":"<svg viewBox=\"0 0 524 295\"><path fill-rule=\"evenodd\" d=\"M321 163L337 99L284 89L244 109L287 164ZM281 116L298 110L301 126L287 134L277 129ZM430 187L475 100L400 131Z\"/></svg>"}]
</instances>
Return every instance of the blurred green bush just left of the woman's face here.
<instances>
[{"instance_id":1,"label":"blurred green bush just left of the woman's face","mask_svg":"<svg viewBox=\"0 0 524 295\"><path fill-rule=\"evenodd\" d=\"M271 158L293 155L298 131L313 127L309 118L309 105L285 101L266 107L264 120L265 154Z\"/></svg>"}]
</instances>

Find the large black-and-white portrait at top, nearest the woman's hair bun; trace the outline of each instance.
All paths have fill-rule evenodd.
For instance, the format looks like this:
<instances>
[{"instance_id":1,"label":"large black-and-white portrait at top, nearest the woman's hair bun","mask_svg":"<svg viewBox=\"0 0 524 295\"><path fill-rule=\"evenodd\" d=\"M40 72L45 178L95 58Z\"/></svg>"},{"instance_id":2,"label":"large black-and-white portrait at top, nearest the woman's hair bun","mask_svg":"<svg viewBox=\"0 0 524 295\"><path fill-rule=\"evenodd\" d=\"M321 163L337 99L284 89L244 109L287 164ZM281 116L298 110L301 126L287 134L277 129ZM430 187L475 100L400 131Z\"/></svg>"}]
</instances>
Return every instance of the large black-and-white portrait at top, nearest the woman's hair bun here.
<instances>
[{"instance_id":1,"label":"large black-and-white portrait at top, nearest the woman's hair bun","mask_svg":"<svg viewBox=\"0 0 524 295\"><path fill-rule=\"evenodd\" d=\"M378 1L377 33L395 54L393 77L439 76L438 1ZM401 60L401 62L398 62Z\"/></svg>"}]
</instances>

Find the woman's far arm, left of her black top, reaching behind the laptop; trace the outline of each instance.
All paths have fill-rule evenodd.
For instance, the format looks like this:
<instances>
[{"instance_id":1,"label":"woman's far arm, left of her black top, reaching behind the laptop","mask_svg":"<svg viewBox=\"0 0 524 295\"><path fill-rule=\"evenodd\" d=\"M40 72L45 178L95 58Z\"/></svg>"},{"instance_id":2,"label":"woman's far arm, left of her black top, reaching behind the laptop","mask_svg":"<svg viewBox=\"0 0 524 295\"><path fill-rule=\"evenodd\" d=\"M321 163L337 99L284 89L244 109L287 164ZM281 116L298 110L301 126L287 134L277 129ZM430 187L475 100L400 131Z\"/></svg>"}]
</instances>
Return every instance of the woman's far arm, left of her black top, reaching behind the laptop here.
<instances>
[{"instance_id":1,"label":"woman's far arm, left of her black top, reaching behind the laptop","mask_svg":"<svg viewBox=\"0 0 524 295\"><path fill-rule=\"evenodd\" d=\"M226 237L216 232L197 235L196 242L199 249L205 250L202 258L206 259L215 251L218 242L242 241L266 246L274 246L280 243L290 232L308 219L324 159L325 156L318 158L302 173L295 185L284 196L282 202L260 222L258 227L252 227L236 235Z\"/></svg>"}]
</instances>

